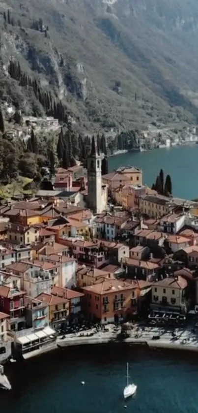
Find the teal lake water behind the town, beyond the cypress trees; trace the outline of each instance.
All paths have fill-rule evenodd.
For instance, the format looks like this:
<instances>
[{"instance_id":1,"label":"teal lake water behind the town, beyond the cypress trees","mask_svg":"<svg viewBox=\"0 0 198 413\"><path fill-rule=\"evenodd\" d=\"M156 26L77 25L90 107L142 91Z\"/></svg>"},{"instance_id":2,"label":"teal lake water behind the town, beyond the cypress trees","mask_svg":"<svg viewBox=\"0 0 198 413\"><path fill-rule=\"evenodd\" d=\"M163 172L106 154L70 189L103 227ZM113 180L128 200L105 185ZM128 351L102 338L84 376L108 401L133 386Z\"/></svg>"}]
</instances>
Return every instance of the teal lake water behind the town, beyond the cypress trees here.
<instances>
[{"instance_id":1,"label":"teal lake water behind the town, beyond the cypress trees","mask_svg":"<svg viewBox=\"0 0 198 413\"><path fill-rule=\"evenodd\" d=\"M170 174L173 194L185 199L198 197L198 145L133 152L109 158L109 171L134 165L143 171L143 182L152 186L160 169Z\"/></svg>"}]
</instances>

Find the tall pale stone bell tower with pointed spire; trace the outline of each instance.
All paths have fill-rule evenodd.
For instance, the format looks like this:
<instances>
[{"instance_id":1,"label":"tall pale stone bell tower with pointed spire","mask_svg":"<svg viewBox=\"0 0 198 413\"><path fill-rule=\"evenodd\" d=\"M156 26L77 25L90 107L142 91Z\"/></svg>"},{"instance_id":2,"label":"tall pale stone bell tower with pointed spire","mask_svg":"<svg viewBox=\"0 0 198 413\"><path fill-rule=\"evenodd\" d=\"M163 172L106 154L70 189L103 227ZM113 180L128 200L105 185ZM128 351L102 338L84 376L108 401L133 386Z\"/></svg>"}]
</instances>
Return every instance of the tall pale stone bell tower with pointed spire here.
<instances>
[{"instance_id":1,"label":"tall pale stone bell tower with pointed spire","mask_svg":"<svg viewBox=\"0 0 198 413\"><path fill-rule=\"evenodd\" d=\"M94 214L102 212L102 179L101 179L101 155L97 147L96 139L92 136L91 153L87 159L88 178L88 207Z\"/></svg>"}]
</instances>

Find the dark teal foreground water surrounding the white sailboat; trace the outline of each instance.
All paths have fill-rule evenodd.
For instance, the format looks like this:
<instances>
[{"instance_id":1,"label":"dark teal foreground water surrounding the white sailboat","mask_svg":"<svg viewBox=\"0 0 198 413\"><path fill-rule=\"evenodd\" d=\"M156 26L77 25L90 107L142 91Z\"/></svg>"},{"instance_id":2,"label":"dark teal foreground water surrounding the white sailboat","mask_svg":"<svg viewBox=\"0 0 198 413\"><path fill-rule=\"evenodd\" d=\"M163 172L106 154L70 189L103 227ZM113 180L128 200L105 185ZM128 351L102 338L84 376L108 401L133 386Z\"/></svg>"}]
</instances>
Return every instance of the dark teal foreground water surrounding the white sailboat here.
<instances>
[{"instance_id":1,"label":"dark teal foreground water surrounding the white sailboat","mask_svg":"<svg viewBox=\"0 0 198 413\"><path fill-rule=\"evenodd\" d=\"M125 402L127 361L138 391ZM117 346L65 349L20 368L15 363L7 375L13 390L0 391L4 413L198 412L198 357L185 351Z\"/></svg>"}]
</instances>

